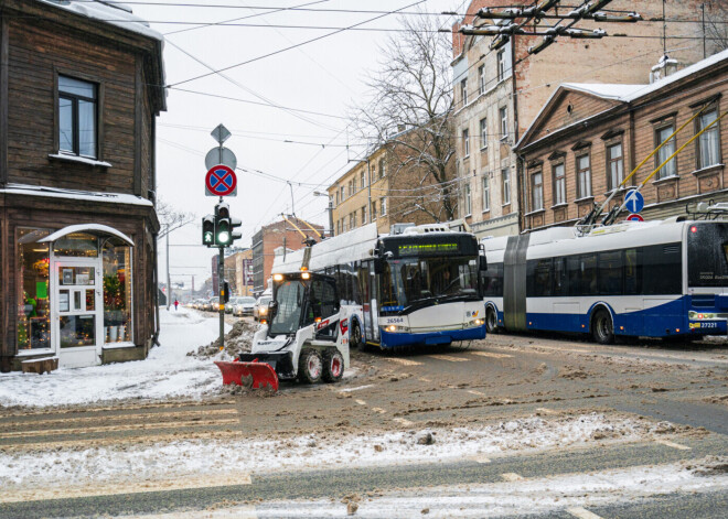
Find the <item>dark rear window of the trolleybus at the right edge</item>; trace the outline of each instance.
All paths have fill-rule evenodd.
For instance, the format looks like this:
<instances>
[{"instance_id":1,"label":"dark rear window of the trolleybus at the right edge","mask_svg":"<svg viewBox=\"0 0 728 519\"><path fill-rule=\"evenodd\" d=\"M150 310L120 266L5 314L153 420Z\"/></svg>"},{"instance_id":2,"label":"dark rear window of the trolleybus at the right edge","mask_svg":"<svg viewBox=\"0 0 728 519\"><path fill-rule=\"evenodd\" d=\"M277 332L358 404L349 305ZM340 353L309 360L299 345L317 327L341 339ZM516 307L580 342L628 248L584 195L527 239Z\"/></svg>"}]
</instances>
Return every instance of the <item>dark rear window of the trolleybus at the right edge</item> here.
<instances>
[{"instance_id":1,"label":"dark rear window of the trolleybus at the right edge","mask_svg":"<svg viewBox=\"0 0 728 519\"><path fill-rule=\"evenodd\" d=\"M687 229L688 286L728 286L728 224L702 221Z\"/></svg>"}]
</instances>

